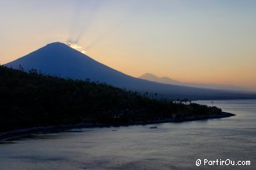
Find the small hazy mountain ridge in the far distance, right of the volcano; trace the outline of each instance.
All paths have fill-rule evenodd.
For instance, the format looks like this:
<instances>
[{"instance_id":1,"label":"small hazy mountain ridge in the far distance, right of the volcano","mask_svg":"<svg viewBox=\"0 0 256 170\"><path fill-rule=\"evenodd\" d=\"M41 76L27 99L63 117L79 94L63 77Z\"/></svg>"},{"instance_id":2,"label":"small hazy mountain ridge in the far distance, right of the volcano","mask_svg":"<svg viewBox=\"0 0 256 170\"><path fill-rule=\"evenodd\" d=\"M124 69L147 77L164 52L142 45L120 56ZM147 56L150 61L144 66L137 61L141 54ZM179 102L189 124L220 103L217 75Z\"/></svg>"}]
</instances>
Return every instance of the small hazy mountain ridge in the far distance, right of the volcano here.
<instances>
[{"instance_id":1,"label":"small hazy mountain ridge in the far distance, right of the volcano","mask_svg":"<svg viewBox=\"0 0 256 170\"><path fill-rule=\"evenodd\" d=\"M158 83L168 84L168 85L183 85L183 86L198 87L198 88L204 88L204 89L215 89L215 90L239 90L239 91L243 90L243 88L240 88L235 85L183 83L178 80L170 79L166 76L158 77L157 75L153 75L151 73L145 73L139 76L138 78L143 80L150 80Z\"/></svg>"}]
</instances>

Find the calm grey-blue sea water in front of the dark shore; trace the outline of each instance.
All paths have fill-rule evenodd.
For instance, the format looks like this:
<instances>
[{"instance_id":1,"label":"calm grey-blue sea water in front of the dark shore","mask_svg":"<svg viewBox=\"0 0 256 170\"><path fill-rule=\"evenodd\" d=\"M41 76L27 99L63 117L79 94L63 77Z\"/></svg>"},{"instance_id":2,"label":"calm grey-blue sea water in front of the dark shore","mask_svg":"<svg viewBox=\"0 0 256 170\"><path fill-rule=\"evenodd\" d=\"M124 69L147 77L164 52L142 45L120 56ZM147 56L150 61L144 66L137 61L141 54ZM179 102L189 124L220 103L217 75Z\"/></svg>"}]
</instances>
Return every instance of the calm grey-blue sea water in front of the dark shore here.
<instances>
[{"instance_id":1,"label":"calm grey-blue sea water in front of the dark shore","mask_svg":"<svg viewBox=\"0 0 256 170\"><path fill-rule=\"evenodd\" d=\"M199 101L211 104L210 101ZM256 100L214 101L226 119L73 129L0 145L0 169L256 169ZM203 166L196 160L250 161Z\"/></svg>"}]
</instances>

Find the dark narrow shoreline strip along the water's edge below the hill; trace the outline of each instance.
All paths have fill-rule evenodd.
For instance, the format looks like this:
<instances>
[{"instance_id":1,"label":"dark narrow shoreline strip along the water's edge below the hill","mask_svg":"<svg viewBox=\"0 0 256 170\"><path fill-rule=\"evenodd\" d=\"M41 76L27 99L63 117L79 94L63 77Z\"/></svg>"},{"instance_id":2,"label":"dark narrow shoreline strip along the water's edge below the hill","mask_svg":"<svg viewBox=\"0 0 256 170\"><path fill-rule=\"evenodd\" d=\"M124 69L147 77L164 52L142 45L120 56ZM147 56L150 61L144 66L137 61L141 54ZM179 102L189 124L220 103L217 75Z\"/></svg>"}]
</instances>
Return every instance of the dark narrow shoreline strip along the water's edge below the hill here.
<instances>
[{"instance_id":1,"label":"dark narrow shoreline strip along the water's edge below the hill","mask_svg":"<svg viewBox=\"0 0 256 170\"><path fill-rule=\"evenodd\" d=\"M210 116L200 116L200 117L187 117L185 119L159 119L159 120L150 120L147 122L138 121L130 124L93 124L93 123L81 123L81 124L64 124L58 126L39 126L32 127L28 129L16 129L8 132L0 133L0 144L8 143L18 138L26 137L28 135L43 133L50 134L53 132L65 132L69 129L83 129L83 128L107 128L107 127L119 127L119 126L130 126L130 125L146 125L146 124L163 124L163 123L182 123L188 121L198 121L198 120L207 120L207 119L222 119L235 116L236 114L231 114L228 112L222 112L221 114L215 114Z\"/></svg>"}]
</instances>

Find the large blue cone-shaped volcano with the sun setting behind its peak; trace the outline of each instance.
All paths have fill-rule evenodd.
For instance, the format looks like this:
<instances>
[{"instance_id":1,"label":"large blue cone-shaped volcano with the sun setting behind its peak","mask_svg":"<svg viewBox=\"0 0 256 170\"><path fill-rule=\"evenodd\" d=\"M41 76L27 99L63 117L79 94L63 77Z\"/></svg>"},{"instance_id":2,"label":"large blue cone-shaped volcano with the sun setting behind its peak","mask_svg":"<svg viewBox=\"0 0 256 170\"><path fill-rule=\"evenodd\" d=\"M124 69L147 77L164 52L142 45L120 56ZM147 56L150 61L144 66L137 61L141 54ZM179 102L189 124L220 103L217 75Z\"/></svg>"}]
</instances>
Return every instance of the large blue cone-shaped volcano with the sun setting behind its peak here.
<instances>
[{"instance_id":1,"label":"large blue cone-shaped volcano with the sun setting behind its peak","mask_svg":"<svg viewBox=\"0 0 256 170\"><path fill-rule=\"evenodd\" d=\"M38 70L48 75L85 80L90 79L128 90L158 93L164 99L190 100L252 99L256 95L228 90L208 90L181 85L166 85L134 78L94 61L89 56L61 42L54 42L4 65L13 69Z\"/></svg>"}]
</instances>

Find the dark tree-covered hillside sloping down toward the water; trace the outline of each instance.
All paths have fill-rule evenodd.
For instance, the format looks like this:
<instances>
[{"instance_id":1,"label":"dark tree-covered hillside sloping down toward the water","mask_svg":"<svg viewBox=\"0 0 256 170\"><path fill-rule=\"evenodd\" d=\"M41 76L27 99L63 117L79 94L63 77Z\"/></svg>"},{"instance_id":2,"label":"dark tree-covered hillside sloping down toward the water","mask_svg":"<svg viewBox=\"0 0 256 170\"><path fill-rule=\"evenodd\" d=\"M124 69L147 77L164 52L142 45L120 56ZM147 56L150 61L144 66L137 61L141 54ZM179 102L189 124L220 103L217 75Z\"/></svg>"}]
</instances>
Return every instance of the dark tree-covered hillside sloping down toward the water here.
<instances>
[{"instance_id":1,"label":"dark tree-covered hillside sloping down toward the water","mask_svg":"<svg viewBox=\"0 0 256 170\"><path fill-rule=\"evenodd\" d=\"M123 125L209 118L221 109L152 100L136 92L0 66L0 131L92 123Z\"/></svg>"}]
</instances>

